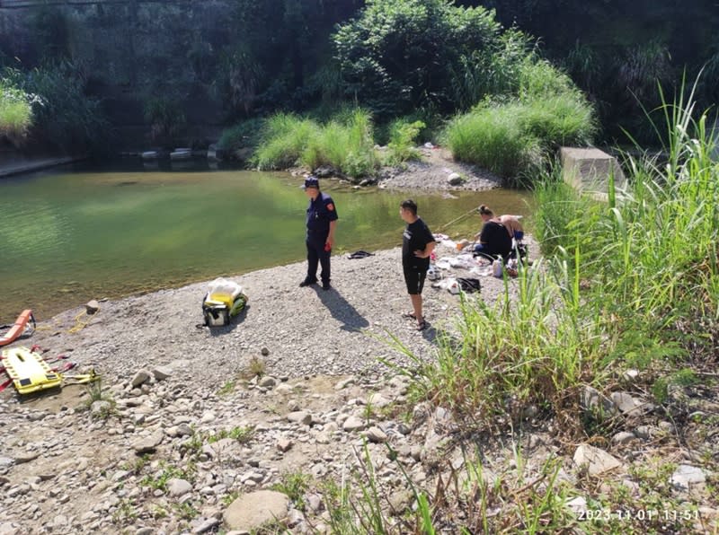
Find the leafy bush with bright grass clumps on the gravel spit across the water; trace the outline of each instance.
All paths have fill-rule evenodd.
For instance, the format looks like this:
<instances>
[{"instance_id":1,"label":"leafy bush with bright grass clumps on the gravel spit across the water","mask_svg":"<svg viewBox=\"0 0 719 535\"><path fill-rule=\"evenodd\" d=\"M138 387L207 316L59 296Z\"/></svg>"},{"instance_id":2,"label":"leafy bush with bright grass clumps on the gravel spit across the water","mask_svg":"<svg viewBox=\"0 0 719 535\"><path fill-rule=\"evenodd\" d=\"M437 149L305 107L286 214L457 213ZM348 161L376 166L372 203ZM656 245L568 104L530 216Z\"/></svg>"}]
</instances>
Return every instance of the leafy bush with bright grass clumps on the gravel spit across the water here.
<instances>
[{"instance_id":1,"label":"leafy bush with bright grass clumps on the gravel spit across the water","mask_svg":"<svg viewBox=\"0 0 719 535\"><path fill-rule=\"evenodd\" d=\"M484 8L370 3L333 42L344 90L364 110L324 123L272 116L257 147L260 169L331 165L361 178L412 157L422 132L441 139L457 160L517 183L541 171L559 145L586 145L596 131L590 103L572 80L537 55L533 39L502 31ZM427 129L457 110L447 127ZM375 120L388 132L383 153L373 148Z\"/></svg>"}]
</instances>

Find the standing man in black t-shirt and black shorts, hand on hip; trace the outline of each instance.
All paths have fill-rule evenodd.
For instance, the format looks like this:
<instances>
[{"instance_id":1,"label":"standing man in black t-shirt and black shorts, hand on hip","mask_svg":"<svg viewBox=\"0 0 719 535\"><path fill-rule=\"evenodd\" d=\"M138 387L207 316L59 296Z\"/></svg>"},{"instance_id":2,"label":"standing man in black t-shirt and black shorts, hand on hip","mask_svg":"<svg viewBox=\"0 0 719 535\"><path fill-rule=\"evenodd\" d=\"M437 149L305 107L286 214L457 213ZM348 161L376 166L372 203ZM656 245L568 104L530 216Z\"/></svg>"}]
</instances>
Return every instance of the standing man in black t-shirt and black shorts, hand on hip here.
<instances>
[{"instance_id":1,"label":"standing man in black t-shirt and black shorts, hand on hip","mask_svg":"<svg viewBox=\"0 0 719 535\"><path fill-rule=\"evenodd\" d=\"M417 204L410 199L402 201L399 215L407 224L402 235L402 267L407 293L410 294L413 311L407 316L417 320L417 330L427 329L422 316L422 288L430 268L430 257L434 250L434 236L417 215Z\"/></svg>"}]
</instances>

